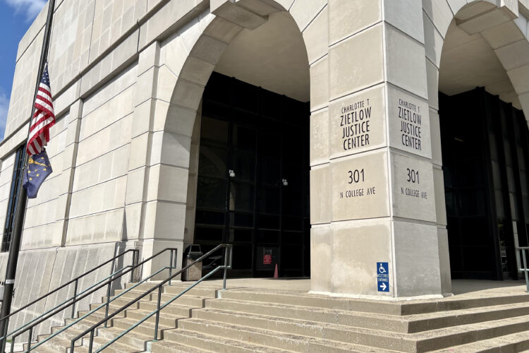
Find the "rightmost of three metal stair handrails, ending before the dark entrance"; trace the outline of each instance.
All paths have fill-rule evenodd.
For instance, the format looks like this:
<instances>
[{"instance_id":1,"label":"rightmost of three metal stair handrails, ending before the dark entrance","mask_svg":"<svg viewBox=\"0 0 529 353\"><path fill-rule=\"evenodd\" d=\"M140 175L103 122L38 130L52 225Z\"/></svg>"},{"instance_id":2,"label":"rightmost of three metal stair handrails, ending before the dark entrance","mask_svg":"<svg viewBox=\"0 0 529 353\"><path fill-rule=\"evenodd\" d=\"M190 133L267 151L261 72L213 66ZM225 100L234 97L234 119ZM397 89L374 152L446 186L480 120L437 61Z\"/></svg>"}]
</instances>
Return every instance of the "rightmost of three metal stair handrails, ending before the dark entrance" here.
<instances>
[{"instance_id":1,"label":"rightmost of three metal stair handrails, ending before the dark entrance","mask_svg":"<svg viewBox=\"0 0 529 353\"><path fill-rule=\"evenodd\" d=\"M171 280L174 277L176 277L177 275L180 275L181 273L183 273L183 271L187 270L188 268L190 268L191 266L195 265L196 263L199 263L199 262L203 261L205 258L207 258L212 253L214 253L215 251L217 251L217 250L219 250L221 248L225 249L224 250L224 265L219 265L219 266L217 266L217 268L214 268L213 270L209 271L209 273L207 273L207 275L203 276L202 278L200 278L200 280L197 280L196 282L194 282L193 285L190 285L189 287L184 289L182 292L180 292L179 294L176 294L176 296L174 296L173 298L169 299L169 301L166 301L166 303L164 305L160 306L160 301L161 301L161 298L162 298L162 289L163 289L164 285L166 284L166 282L169 282L169 285L171 285ZM228 261L228 258L229 258L229 261ZM174 275L169 275L168 278L166 278L164 281L160 282L158 285L148 289L145 293L141 294L139 297L136 297L135 299L129 301L127 304L121 306L120 309L114 311L114 313L112 313L111 315L106 316L104 319L102 319L98 323L95 323L90 328L87 328L87 330L83 331L83 333L80 333L79 335L77 335L77 337L74 337L71 340L70 353L73 353L73 351L75 349L75 341L80 340L85 335L87 335L87 333L90 333L90 342L89 342L89 345L88 345L88 353L92 353L92 346L93 346L93 342L94 342L95 330L102 324L104 324L105 327L106 327L107 321L109 321L111 318L114 318L114 316L118 315L118 313L121 313L122 311L126 310L132 304L135 304L136 302L140 301L140 299L142 299L142 298L146 297L147 295L151 294L156 289L158 289L157 309L152 311L151 313L149 313L144 318L142 318L140 321L138 321L138 323L135 323L134 325L130 326L130 328L128 328L127 330L123 331L123 333L121 333L118 336L114 337L114 339L112 339L109 342L107 342L106 345L104 345L103 347L100 347L96 351L96 353L101 352L103 349L109 347L109 345L111 345L112 343L114 343L117 340L119 340L121 337L123 337L124 335L129 333L134 328L138 327L138 325L140 325L140 324L144 323L145 321L147 321L154 314L156 314L156 323L154 324L154 342L157 341L158 340L158 324L159 324L159 313L160 313L160 311L162 309L164 309L166 306L168 306L169 304L171 304L176 299L180 298L183 294L186 294L186 292L188 292L190 289L193 289L193 287L198 285L200 282L206 280L208 277L212 276L214 273L217 273L217 271L220 270L220 269L224 269L224 280L223 280L222 289L223 290L226 289L226 271L231 269L232 259L233 259L233 246L231 244L219 244L219 245L215 246L214 249L212 249L212 250L208 251L207 253L205 253L204 255L200 256L200 258L197 258L195 261L193 261L192 263L188 264L186 267L182 268L181 270L178 270L178 272L174 273Z\"/></svg>"}]
</instances>

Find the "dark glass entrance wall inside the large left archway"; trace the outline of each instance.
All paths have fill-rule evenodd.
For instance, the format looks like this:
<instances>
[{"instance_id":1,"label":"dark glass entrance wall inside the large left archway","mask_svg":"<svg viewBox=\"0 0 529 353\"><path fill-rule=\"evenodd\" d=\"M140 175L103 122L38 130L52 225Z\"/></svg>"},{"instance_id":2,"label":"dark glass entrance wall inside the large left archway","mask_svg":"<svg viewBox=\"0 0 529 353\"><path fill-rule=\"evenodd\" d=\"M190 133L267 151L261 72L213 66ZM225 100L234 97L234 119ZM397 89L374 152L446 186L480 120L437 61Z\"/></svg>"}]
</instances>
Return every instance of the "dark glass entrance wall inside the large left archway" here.
<instances>
[{"instance_id":1,"label":"dark glass entrance wall inside the large left archway","mask_svg":"<svg viewBox=\"0 0 529 353\"><path fill-rule=\"evenodd\" d=\"M310 275L307 104L217 73L211 80L228 80L233 94L255 90L257 104L219 102L218 82L205 92L195 243L204 252L233 244L231 277L272 277L276 265L281 276ZM273 114L258 104L270 97Z\"/></svg>"}]
</instances>

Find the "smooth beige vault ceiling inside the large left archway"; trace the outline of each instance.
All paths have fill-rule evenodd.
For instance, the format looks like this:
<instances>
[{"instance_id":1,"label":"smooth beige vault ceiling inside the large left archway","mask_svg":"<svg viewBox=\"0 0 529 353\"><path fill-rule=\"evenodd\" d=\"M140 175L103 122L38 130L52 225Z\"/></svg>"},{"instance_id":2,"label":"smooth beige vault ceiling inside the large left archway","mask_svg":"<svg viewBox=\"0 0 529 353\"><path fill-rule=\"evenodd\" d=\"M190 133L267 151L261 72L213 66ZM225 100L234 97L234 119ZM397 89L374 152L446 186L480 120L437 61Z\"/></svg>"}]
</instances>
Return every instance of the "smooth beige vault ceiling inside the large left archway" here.
<instances>
[{"instance_id":1,"label":"smooth beige vault ceiling inside the large left archway","mask_svg":"<svg viewBox=\"0 0 529 353\"><path fill-rule=\"evenodd\" d=\"M243 30L226 48L215 71L301 102L310 100L305 43L286 12L272 13L255 30Z\"/></svg>"}]
</instances>

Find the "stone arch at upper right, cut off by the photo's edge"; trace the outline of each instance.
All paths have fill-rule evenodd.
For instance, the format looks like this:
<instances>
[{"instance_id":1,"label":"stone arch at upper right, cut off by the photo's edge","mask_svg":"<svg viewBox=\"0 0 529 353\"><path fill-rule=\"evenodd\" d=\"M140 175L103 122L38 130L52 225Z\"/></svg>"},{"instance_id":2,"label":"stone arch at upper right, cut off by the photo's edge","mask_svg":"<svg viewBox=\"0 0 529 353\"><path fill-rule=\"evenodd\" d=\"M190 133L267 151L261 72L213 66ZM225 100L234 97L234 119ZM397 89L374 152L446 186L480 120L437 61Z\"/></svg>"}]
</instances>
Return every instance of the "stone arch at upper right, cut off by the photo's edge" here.
<instances>
[{"instance_id":1,"label":"stone arch at upper right, cut off by the photo's edge","mask_svg":"<svg viewBox=\"0 0 529 353\"><path fill-rule=\"evenodd\" d=\"M458 28L469 35L480 33L490 44L523 110L529 112L528 19L519 13L518 1L505 1L502 6L494 0L427 0L422 4L430 107L438 109L442 49L449 26L455 21Z\"/></svg>"}]
</instances>

